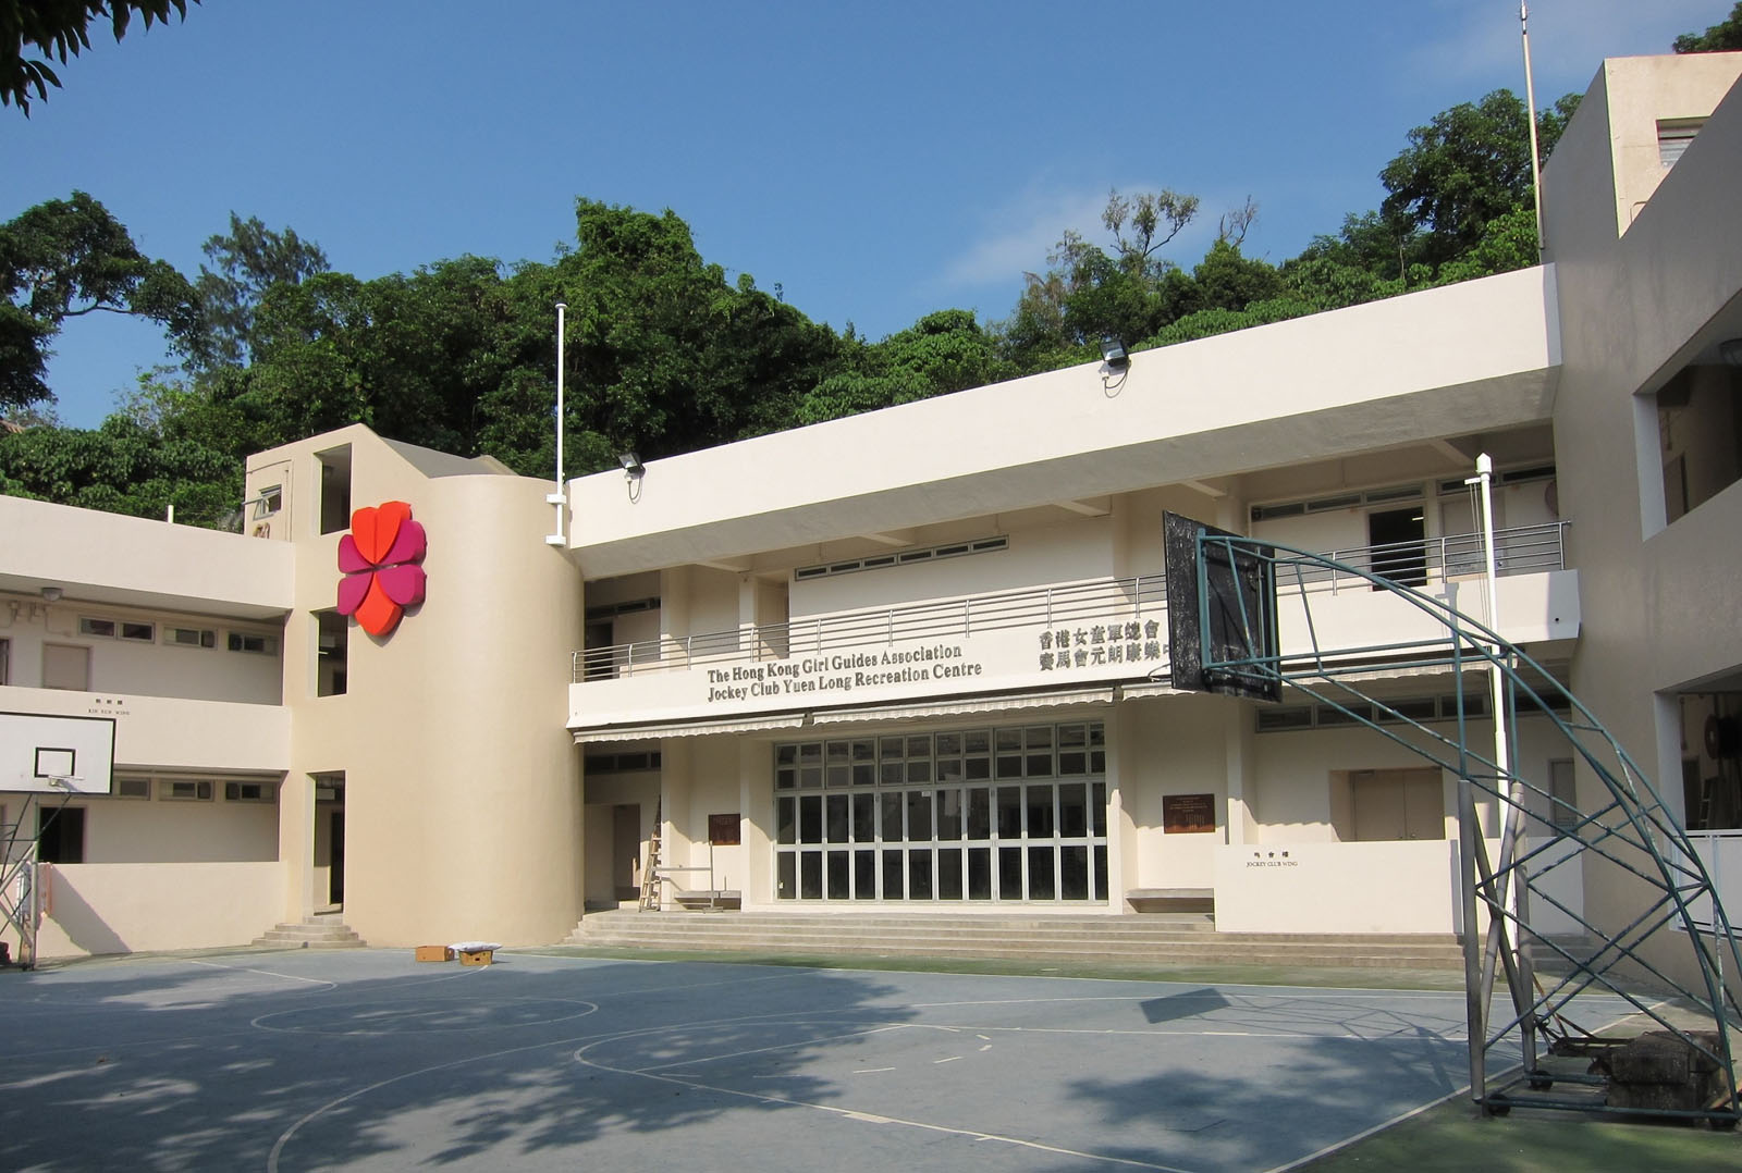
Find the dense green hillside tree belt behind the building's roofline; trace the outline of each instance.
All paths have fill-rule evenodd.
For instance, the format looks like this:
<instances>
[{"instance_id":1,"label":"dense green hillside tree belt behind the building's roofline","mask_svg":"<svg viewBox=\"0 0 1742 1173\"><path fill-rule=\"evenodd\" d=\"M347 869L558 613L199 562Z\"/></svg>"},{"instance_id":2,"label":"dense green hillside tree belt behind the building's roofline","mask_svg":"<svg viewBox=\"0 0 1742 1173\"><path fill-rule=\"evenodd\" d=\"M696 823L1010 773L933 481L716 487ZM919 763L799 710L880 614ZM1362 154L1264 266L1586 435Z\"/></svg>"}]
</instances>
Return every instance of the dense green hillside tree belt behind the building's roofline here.
<instances>
[{"instance_id":1,"label":"dense green hillside tree belt behind the building's roofline","mask_svg":"<svg viewBox=\"0 0 1742 1173\"><path fill-rule=\"evenodd\" d=\"M1573 101L1542 117L1545 150ZM584 473L1090 360L1104 336L1171 345L1535 265L1526 127L1505 90L1441 113L1381 172L1378 211L1280 266L1242 252L1251 198L1185 266L1165 251L1197 197L1111 191L1104 244L1063 233L1007 320L939 310L880 341L728 282L671 211L580 198L575 245L549 263L460 256L373 280L232 214L188 282L75 193L0 226L0 411L30 425L0 433L0 493L223 524L249 452L352 421L549 475L557 301L566 461ZM99 308L162 322L186 362L141 376L101 428L56 426L47 345Z\"/></svg>"}]
</instances>

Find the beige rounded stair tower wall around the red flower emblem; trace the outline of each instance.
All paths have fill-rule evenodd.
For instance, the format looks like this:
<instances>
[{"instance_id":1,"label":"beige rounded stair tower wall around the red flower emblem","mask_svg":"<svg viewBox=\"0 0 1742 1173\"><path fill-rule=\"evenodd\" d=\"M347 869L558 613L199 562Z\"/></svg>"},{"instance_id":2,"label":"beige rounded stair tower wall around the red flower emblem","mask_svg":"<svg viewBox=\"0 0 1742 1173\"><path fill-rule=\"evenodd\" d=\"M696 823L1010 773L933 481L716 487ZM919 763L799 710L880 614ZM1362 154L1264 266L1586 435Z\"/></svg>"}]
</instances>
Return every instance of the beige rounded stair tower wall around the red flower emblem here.
<instances>
[{"instance_id":1,"label":"beige rounded stair tower wall around the red flower emblem","mask_svg":"<svg viewBox=\"0 0 1742 1173\"><path fill-rule=\"evenodd\" d=\"M387 639L355 625L348 691L314 694L315 621L334 604L338 533L315 534L301 494L315 452L352 447L354 508L401 499L429 534L427 600ZM582 907L578 754L564 733L580 580L544 543L544 482L425 461L364 428L286 446L298 501L296 611L286 625L293 715L280 858L284 915L312 889L312 776L345 776L345 921L373 945L564 936ZM277 536L277 534L275 534ZM303 879L298 879L301 870Z\"/></svg>"}]
</instances>

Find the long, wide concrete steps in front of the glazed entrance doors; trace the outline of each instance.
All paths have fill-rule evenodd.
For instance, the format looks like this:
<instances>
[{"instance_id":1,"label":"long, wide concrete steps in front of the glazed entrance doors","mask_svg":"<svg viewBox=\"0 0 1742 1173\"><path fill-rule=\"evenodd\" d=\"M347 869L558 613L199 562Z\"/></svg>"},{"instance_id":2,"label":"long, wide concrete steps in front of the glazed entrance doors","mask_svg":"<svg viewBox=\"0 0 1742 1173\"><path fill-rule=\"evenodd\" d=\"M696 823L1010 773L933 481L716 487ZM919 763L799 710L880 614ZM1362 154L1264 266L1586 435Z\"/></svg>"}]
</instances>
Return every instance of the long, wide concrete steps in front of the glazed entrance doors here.
<instances>
[{"instance_id":1,"label":"long, wide concrete steps in front of the glazed entrance doors","mask_svg":"<svg viewBox=\"0 0 1742 1173\"><path fill-rule=\"evenodd\" d=\"M589 912L564 942L662 952L984 957L1103 966L1463 968L1449 933L1218 933L1207 914Z\"/></svg>"}]
</instances>

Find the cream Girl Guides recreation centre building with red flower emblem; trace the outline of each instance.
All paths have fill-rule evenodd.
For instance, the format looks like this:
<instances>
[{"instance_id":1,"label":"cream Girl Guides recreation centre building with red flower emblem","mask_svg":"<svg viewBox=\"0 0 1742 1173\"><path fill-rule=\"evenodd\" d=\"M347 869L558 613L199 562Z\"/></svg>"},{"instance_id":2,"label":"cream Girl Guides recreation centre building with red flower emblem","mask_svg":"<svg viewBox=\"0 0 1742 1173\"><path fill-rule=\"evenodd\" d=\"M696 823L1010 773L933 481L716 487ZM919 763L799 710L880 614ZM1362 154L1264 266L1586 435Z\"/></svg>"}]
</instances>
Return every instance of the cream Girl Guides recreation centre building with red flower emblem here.
<instances>
[{"instance_id":1,"label":"cream Girl Guides recreation centre building with red flower emblem","mask_svg":"<svg viewBox=\"0 0 1742 1173\"><path fill-rule=\"evenodd\" d=\"M1458 931L1453 771L1294 687L1172 687L1169 512L1491 623L1742 905L1739 75L1604 63L1538 268L580 477L556 508L364 426L254 456L242 534L0 498L0 729L113 738L82 781L7 747L40 954L326 910L375 945L549 943L638 902L650 851L667 910ZM1286 654L1413 639L1359 574L1303 590ZM1479 684L1369 660L1383 712L1493 738ZM1549 828L1597 785L1554 715L1512 729ZM1629 882L1587 863L1556 900L1601 921Z\"/></svg>"}]
</instances>

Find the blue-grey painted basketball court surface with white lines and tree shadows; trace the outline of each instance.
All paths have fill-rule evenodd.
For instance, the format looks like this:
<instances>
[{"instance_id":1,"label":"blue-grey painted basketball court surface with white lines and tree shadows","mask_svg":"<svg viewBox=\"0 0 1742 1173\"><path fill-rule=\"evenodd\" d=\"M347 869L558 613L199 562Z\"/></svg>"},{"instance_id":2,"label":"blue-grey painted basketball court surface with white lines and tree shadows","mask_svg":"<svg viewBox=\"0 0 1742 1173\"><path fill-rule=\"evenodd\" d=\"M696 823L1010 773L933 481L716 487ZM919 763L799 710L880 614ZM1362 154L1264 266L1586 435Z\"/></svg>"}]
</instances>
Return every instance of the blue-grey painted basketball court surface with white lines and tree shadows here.
<instances>
[{"instance_id":1,"label":"blue-grey painted basketball court surface with white lines and tree shadows","mask_svg":"<svg viewBox=\"0 0 1742 1173\"><path fill-rule=\"evenodd\" d=\"M0 973L0 1168L1279 1170L1455 1093L1463 1039L1458 992L98 961Z\"/></svg>"}]
</instances>

